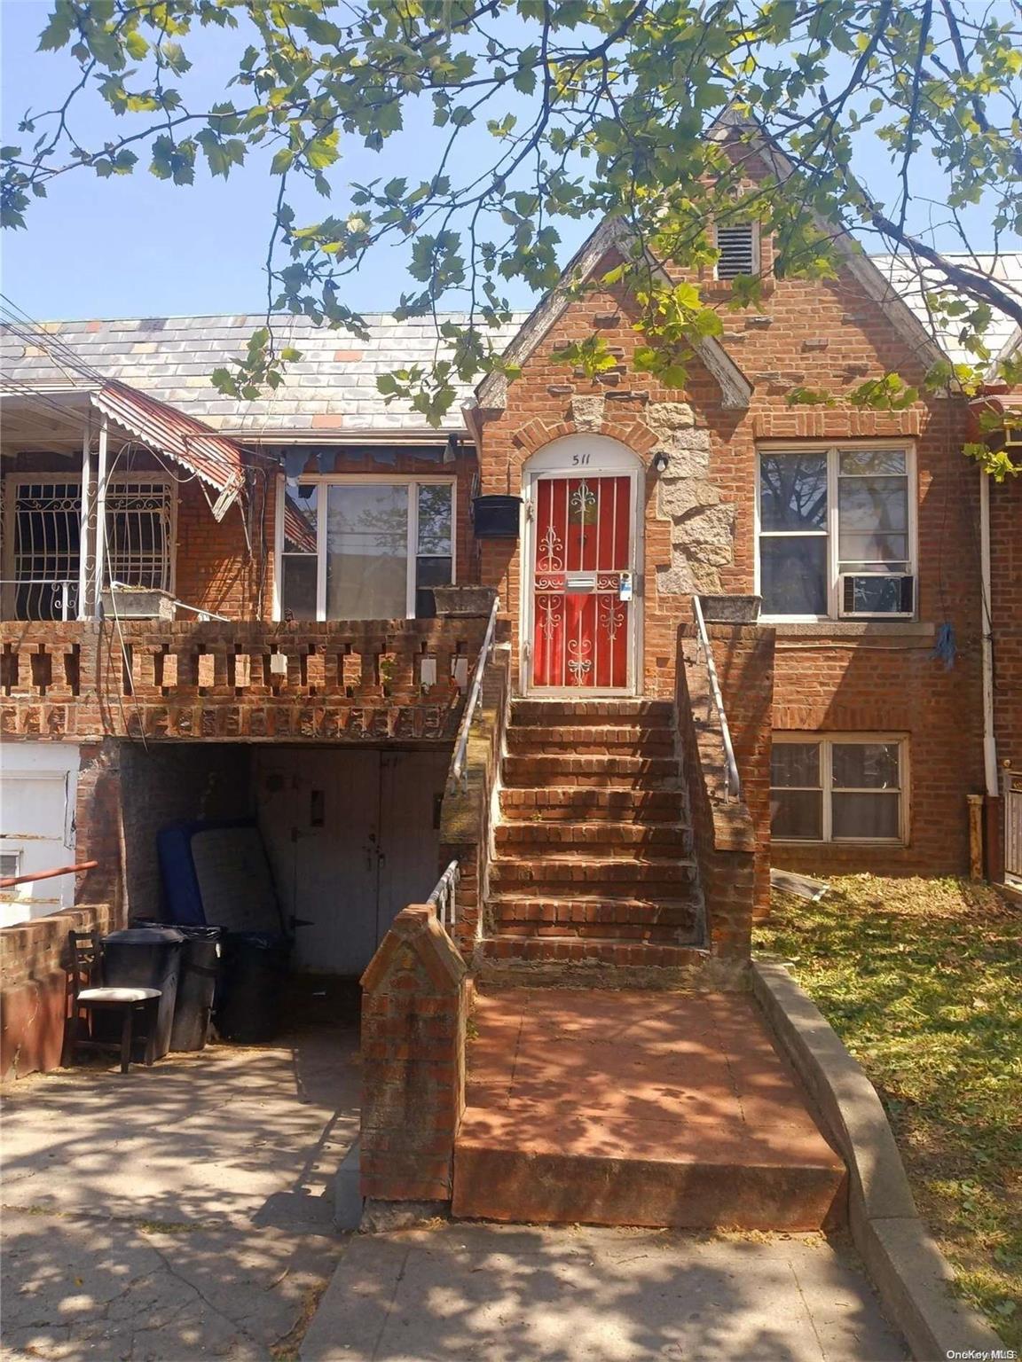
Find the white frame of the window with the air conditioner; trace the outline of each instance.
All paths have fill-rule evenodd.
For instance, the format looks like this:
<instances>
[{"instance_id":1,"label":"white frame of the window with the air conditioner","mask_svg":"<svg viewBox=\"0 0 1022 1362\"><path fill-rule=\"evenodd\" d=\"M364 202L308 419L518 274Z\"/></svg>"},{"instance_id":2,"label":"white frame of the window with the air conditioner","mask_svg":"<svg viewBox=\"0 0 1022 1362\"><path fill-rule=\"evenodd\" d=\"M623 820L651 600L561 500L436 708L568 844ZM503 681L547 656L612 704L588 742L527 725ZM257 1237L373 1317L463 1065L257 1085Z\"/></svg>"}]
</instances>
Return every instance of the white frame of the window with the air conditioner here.
<instances>
[{"instance_id":1,"label":"white frame of the window with the air conditioner","mask_svg":"<svg viewBox=\"0 0 1022 1362\"><path fill-rule=\"evenodd\" d=\"M760 558L760 542L767 539L827 539L827 613L826 614L769 614L760 618L764 624L822 624L829 620L845 618L841 614L841 572L839 572L839 545L838 545L838 479L841 477L841 454L861 451L872 454L878 449L901 449L905 452L906 496L908 496L908 537L909 563L906 573L914 579L912 595L912 620L918 618L918 490L916 467L916 444L913 440L839 440L833 441L792 441L792 440L759 440L756 441L756 470L755 470L755 507L754 523L756 535L755 552L755 591L763 594L763 569ZM827 455L827 528L826 530L763 530L762 518L762 479L760 455L763 454L826 454ZM868 568L864 568L868 572ZM868 617L871 622L883 624L884 616ZM908 616L897 616L887 622L905 624Z\"/></svg>"}]
</instances>

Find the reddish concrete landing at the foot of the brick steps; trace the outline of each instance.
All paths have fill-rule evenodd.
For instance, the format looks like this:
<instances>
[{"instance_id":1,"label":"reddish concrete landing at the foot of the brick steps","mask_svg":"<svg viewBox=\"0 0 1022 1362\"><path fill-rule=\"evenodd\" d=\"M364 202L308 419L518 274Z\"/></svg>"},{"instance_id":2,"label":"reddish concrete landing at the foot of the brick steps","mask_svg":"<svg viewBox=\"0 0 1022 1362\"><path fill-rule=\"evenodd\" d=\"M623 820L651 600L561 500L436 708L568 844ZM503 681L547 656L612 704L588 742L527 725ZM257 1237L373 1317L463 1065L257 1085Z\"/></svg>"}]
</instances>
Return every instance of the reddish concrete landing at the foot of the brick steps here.
<instances>
[{"instance_id":1,"label":"reddish concrete landing at the foot of the brick steps","mask_svg":"<svg viewBox=\"0 0 1022 1362\"><path fill-rule=\"evenodd\" d=\"M819 1230L843 1163L744 994L482 994L454 1215Z\"/></svg>"}]
</instances>

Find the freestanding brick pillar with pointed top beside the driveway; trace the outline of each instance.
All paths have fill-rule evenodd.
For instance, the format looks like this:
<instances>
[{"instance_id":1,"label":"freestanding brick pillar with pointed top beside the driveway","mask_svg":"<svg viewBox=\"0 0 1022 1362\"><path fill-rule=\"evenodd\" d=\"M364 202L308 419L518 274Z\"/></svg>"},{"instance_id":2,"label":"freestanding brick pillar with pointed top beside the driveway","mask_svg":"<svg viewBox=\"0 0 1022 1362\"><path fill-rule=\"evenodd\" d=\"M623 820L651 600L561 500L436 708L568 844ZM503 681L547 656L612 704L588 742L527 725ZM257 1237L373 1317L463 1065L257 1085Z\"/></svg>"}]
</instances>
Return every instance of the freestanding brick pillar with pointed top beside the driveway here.
<instances>
[{"instance_id":1,"label":"freestanding brick pillar with pointed top beside the driveway","mask_svg":"<svg viewBox=\"0 0 1022 1362\"><path fill-rule=\"evenodd\" d=\"M362 1196L450 1201L465 1111L467 967L420 903L397 915L361 982Z\"/></svg>"}]
</instances>

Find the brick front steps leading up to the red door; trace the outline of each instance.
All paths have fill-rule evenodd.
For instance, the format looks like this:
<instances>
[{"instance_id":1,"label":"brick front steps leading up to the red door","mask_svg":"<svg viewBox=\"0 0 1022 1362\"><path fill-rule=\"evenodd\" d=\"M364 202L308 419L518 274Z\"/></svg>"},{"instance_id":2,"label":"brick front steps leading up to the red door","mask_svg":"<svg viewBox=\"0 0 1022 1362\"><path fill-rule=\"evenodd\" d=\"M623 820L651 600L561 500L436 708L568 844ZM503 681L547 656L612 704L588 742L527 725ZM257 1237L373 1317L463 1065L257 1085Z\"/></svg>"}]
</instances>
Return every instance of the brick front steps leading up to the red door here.
<instances>
[{"instance_id":1,"label":"brick front steps leading up to the red door","mask_svg":"<svg viewBox=\"0 0 1022 1362\"><path fill-rule=\"evenodd\" d=\"M673 707L518 700L480 963L691 968L702 898Z\"/></svg>"}]
</instances>

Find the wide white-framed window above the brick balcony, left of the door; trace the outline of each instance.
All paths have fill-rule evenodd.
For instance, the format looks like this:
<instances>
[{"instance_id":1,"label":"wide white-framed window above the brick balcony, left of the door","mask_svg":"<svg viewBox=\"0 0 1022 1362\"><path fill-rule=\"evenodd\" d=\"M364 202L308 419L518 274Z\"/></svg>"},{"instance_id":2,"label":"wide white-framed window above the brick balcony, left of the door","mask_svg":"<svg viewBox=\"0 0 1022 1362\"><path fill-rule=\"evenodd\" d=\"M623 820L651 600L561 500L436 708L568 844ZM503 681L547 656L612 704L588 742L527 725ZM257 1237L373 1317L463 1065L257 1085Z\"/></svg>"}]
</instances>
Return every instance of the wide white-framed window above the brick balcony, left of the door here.
<instances>
[{"instance_id":1,"label":"wide white-framed window above the brick balcony, left of the door","mask_svg":"<svg viewBox=\"0 0 1022 1362\"><path fill-rule=\"evenodd\" d=\"M294 620L435 613L454 582L454 479L286 478L279 498L279 609Z\"/></svg>"}]
</instances>

